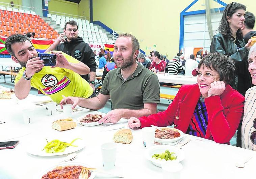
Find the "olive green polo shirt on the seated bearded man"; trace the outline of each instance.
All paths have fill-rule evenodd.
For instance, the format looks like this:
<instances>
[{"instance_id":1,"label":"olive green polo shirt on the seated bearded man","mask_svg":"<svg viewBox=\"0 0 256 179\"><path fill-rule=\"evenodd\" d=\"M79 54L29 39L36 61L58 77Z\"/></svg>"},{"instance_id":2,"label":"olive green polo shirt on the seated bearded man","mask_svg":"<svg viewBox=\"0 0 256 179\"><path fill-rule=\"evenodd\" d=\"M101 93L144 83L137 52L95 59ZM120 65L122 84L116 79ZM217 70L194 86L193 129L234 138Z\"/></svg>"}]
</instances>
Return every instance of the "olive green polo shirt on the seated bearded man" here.
<instances>
[{"instance_id":1,"label":"olive green polo shirt on the seated bearded man","mask_svg":"<svg viewBox=\"0 0 256 179\"><path fill-rule=\"evenodd\" d=\"M144 109L144 103L160 102L160 87L157 76L149 69L138 65L125 81L121 69L110 70L100 90L110 95L112 109Z\"/></svg>"}]
</instances>

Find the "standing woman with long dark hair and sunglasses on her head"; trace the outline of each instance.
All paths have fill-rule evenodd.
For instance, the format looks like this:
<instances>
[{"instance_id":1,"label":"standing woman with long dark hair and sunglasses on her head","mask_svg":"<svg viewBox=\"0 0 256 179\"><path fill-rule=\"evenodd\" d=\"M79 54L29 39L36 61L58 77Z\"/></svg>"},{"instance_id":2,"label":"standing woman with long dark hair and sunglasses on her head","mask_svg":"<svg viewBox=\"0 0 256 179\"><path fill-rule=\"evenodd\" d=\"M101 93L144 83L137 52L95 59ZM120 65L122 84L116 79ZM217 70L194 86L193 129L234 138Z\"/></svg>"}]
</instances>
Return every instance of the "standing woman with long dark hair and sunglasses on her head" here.
<instances>
[{"instance_id":1,"label":"standing woman with long dark hair and sunglasses on her head","mask_svg":"<svg viewBox=\"0 0 256 179\"><path fill-rule=\"evenodd\" d=\"M218 28L220 33L213 36L211 42L211 53L219 52L229 55L236 66L236 75L232 87L245 96L246 90L251 85L250 74L248 73L247 56L250 50L250 42L245 44L241 28L245 21L246 6L232 2L224 11Z\"/></svg>"}]
</instances>

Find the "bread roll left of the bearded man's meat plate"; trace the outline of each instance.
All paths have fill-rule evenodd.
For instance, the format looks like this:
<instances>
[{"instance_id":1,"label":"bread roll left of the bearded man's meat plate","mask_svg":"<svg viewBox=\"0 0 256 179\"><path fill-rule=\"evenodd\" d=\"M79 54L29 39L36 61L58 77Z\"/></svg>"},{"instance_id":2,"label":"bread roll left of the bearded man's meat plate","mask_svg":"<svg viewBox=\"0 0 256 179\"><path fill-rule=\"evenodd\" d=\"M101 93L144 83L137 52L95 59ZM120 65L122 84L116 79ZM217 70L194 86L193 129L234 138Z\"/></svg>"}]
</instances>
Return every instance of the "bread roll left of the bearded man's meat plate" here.
<instances>
[{"instance_id":1,"label":"bread roll left of the bearded man's meat plate","mask_svg":"<svg viewBox=\"0 0 256 179\"><path fill-rule=\"evenodd\" d=\"M73 122L73 119L68 118L68 119L60 119L57 121L54 121L52 123L52 128L56 129L58 131L62 130L68 130L76 127L76 122Z\"/></svg>"}]
</instances>

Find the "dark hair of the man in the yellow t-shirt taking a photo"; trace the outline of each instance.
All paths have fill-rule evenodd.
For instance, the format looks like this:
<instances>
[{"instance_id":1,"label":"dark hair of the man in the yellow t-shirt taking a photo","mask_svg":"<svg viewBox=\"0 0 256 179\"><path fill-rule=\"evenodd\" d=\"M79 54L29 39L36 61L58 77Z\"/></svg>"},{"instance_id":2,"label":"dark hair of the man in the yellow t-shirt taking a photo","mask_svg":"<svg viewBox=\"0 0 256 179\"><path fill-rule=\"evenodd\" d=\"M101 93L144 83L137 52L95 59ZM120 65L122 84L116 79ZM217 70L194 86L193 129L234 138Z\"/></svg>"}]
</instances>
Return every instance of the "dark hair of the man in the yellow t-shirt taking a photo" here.
<instances>
[{"instance_id":1,"label":"dark hair of the man in the yellow t-shirt taking a photo","mask_svg":"<svg viewBox=\"0 0 256 179\"><path fill-rule=\"evenodd\" d=\"M13 43L17 43L17 42L24 43L26 40L28 40L31 43L31 41L29 40L29 38L26 35L12 34L8 38L6 38L6 40L5 40L5 48L6 48L7 52L10 55L15 56L14 52L11 50L11 45ZM32 43L31 43L31 45L32 45Z\"/></svg>"}]
</instances>

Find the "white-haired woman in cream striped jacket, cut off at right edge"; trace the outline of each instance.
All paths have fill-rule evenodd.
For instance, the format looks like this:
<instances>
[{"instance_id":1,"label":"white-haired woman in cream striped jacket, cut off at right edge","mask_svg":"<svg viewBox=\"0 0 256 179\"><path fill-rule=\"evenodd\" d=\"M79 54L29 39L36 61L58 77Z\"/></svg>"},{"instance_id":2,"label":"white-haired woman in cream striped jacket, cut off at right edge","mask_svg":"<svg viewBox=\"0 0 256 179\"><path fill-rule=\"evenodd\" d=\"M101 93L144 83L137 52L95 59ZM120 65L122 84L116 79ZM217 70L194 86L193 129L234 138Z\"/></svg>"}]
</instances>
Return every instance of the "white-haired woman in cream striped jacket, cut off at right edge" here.
<instances>
[{"instance_id":1,"label":"white-haired woman in cream striped jacket, cut off at right edge","mask_svg":"<svg viewBox=\"0 0 256 179\"><path fill-rule=\"evenodd\" d=\"M252 46L249 55L249 72L252 83L256 85L256 43ZM242 148L256 151L256 86L247 90L245 95L244 119L242 122Z\"/></svg>"}]
</instances>

